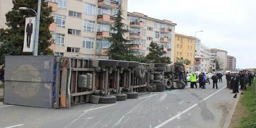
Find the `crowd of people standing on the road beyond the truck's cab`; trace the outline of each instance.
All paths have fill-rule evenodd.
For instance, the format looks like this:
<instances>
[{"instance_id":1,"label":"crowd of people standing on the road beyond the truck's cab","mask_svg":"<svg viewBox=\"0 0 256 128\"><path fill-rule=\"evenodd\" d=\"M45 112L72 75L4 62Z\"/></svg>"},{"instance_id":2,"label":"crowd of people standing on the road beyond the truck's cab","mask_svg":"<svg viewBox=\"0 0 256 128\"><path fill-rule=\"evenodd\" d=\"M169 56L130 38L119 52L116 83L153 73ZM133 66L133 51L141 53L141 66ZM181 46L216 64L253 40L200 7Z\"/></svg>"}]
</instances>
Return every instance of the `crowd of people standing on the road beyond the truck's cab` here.
<instances>
[{"instance_id":1,"label":"crowd of people standing on the road beyond the truck's cab","mask_svg":"<svg viewBox=\"0 0 256 128\"><path fill-rule=\"evenodd\" d=\"M190 74L191 85L190 88L197 88L197 78L199 83L199 88L206 89L206 83L210 84L210 80L213 80L213 89L218 89L218 81L222 82L222 73L215 73L213 76L209 76L206 72L201 72L198 76L195 73ZM232 90L232 93L239 93L240 90L245 91L247 83L249 86L252 85L255 74L252 71L243 70L238 74L236 73L226 73L227 88Z\"/></svg>"}]
</instances>

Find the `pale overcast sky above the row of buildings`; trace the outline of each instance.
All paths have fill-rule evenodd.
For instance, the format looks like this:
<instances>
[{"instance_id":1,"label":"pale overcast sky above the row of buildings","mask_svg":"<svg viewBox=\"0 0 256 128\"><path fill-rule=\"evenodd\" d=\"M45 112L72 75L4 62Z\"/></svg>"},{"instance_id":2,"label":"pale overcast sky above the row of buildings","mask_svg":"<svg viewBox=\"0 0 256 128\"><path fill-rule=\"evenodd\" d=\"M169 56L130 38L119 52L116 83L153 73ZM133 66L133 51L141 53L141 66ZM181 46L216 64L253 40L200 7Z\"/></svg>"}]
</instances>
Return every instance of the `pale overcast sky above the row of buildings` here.
<instances>
[{"instance_id":1,"label":"pale overcast sky above the row of buildings","mask_svg":"<svg viewBox=\"0 0 256 128\"><path fill-rule=\"evenodd\" d=\"M236 57L236 68L256 68L256 0L128 0L128 12L176 23L209 48Z\"/></svg>"}]
</instances>

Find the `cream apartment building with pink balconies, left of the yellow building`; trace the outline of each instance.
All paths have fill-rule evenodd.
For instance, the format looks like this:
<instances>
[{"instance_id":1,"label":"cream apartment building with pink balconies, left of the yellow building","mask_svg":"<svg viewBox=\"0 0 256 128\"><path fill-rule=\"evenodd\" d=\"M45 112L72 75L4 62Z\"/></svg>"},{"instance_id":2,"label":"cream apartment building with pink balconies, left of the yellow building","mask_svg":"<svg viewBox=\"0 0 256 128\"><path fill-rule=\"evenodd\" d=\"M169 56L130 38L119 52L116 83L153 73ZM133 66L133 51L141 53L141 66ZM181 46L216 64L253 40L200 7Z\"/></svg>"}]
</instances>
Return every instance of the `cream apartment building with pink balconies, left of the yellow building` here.
<instances>
[{"instance_id":1,"label":"cream apartment building with pink balconies, left of the yellow building","mask_svg":"<svg viewBox=\"0 0 256 128\"><path fill-rule=\"evenodd\" d=\"M135 55L146 56L149 53L150 43L153 41L164 46L167 52L164 56L174 61L174 35L177 24L169 20L157 20L142 13L128 13L130 22L129 38L132 44L138 44L132 48Z\"/></svg>"}]
</instances>

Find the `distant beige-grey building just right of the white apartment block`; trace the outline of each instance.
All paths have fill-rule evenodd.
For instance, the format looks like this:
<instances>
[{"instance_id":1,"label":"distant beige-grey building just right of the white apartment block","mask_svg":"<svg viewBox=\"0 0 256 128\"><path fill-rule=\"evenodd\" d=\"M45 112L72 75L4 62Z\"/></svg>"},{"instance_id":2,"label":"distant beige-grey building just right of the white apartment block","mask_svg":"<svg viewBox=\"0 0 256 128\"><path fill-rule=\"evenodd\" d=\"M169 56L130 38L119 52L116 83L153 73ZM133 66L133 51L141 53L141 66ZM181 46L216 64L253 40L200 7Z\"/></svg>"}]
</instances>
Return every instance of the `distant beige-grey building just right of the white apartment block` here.
<instances>
[{"instance_id":1,"label":"distant beige-grey building just right of the white apartment block","mask_svg":"<svg viewBox=\"0 0 256 128\"><path fill-rule=\"evenodd\" d=\"M216 48L210 49L211 51L211 64L217 59L219 62L219 70L228 69L228 52L224 50L219 50Z\"/></svg>"}]
</instances>

